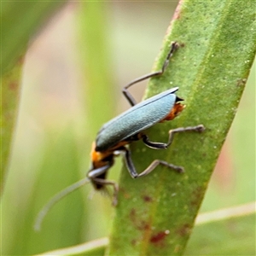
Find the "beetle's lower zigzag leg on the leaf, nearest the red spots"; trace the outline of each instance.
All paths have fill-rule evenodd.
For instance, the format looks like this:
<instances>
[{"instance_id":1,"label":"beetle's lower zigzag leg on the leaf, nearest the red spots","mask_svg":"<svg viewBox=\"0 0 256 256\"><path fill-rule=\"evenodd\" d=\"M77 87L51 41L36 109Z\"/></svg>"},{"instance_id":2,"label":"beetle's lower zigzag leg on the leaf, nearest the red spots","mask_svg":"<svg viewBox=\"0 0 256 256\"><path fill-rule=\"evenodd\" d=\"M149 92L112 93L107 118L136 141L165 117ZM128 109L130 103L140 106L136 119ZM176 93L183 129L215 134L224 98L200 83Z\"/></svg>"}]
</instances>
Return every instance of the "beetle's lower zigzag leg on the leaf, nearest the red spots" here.
<instances>
[{"instance_id":1,"label":"beetle's lower zigzag leg on the leaf, nearest the red spots","mask_svg":"<svg viewBox=\"0 0 256 256\"><path fill-rule=\"evenodd\" d=\"M143 176L147 175L149 172L152 172L154 170L154 168L158 165L167 166L169 168L172 168L176 172L184 172L182 166L174 166L174 165L169 164L163 160L154 160L143 172L137 173L137 171L133 165L133 162L131 160L130 150L127 148L124 148L123 151L125 152L125 165L129 171L129 173L131 174L131 177L133 177L133 178L143 177Z\"/></svg>"}]
</instances>

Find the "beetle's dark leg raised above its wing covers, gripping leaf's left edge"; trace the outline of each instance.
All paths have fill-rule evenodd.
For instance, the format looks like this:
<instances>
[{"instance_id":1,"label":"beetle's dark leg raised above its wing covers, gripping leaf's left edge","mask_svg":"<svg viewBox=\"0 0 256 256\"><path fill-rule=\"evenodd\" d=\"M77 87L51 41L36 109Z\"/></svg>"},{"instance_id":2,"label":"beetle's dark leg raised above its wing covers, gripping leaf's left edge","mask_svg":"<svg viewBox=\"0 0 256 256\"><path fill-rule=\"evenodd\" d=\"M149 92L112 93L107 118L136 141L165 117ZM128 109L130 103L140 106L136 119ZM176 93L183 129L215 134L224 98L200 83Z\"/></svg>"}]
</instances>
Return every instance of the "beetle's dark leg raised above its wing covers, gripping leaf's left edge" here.
<instances>
[{"instance_id":1,"label":"beetle's dark leg raised above its wing covers, gripping leaf's left edge","mask_svg":"<svg viewBox=\"0 0 256 256\"><path fill-rule=\"evenodd\" d=\"M127 99L128 102L130 102L131 106L134 106L137 104L136 100L134 99L133 96L131 96L131 93L127 90L129 87L131 87L131 85L133 84L137 84L139 82L142 82L143 80L146 80L146 79L150 79L150 78L153 78L154 76L158 76L158 75L161 75L165 72L166 70L166 67L168 66L169 64L169 61L174 53L174 51L178 48L178 44L177 42L172 42L171 44L171 48L170 48L170 51L166 57L166 61L163 65L163 67L161 68L160 71L156 71L154 73L148 73L148 74L145 74L143 75L142 77L138 78L138 79L135 79L133 81L131 81L129 84L127 84L124 88L123 88L123 94L125 96L125 98Z\"/></svg>"}]
</instances>

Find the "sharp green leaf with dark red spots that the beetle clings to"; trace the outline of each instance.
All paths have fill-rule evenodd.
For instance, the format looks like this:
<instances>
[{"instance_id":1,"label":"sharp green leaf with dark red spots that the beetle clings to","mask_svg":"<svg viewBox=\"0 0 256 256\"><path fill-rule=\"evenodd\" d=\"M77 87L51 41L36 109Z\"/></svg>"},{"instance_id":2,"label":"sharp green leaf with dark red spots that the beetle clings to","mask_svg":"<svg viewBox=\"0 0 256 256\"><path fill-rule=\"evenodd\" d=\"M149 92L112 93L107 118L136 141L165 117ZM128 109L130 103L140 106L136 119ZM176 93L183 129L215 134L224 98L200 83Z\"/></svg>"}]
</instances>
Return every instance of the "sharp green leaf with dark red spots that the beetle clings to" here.
<instances>
[{"instance_id":1,"label":"sharp green leaf with dark red spots that the beetle clings to","mask_svg":"<svg viewBox=\"0 0 256 256\"><path fill-rule=\"evenodd\" d=\"M247 82L255 39L252 0L180 2L154 70L160 69L172 41L181 47L166 73L150 80L147 96L179 86L177 95L187 108L171 123L155 125L148 136L165 142L174 127L203 124L207 130L177 134L166 151L131 145L138 172L154 159L184 166L186 172L159 166L133 180L124 168L108 255L183 253Z\"/></svg>"}]
</instances>

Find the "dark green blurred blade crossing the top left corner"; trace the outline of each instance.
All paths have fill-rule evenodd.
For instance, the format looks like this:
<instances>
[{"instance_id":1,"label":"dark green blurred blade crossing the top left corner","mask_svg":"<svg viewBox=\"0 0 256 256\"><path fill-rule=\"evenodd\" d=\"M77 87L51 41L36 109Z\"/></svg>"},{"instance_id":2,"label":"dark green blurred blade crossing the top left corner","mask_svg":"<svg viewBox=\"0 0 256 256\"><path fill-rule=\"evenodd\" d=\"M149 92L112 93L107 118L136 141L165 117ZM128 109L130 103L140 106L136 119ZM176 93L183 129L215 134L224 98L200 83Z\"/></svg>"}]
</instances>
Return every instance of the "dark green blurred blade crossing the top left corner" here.
<instances>
[{"instance_id":1,"label":"dark green blurred blade crossing the top left corner","mask_svg":"<svg viewBox=\"0 0 256 256\"><path fill-rule=\"evenodd\" d=\"M1 75L12 68L51 15L66 1L1 2Z\"/></svg>"}]
</instances>

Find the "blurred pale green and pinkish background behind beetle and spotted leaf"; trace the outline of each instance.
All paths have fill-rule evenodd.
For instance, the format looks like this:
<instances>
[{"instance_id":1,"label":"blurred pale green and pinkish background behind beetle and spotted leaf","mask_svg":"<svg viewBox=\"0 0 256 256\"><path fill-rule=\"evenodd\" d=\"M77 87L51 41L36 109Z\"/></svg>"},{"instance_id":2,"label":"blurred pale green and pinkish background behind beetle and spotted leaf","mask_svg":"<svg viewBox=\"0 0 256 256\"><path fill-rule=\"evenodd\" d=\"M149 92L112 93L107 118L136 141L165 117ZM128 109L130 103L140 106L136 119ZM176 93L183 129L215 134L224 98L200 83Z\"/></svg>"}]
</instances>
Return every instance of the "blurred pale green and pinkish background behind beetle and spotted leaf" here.
<instances>
[{"instance_id":1,"label":"blurred pale green and pinkish background behind beetle and spotted leaf","mask_svg":"<svg viewBox=\"0 0 256 256\"><path fill-rule=\"evenodd\" d=\"M121 88L151 70L172 18L170 9L174 11L176 5L67 3L33 38L26 53L19 118L4 178L3 254L42 253L108 236L111 201L94 194L90 185L60 201L39 233L32 225L52 195L89 170L96 132L129 108ZM100 34L95 33L98 26ZM143 89L142 84L131 90L137 100ZM92 107L87 108L87 102ZM118 178L120 164L117 160L110 178ZM255 201L255 67L201 212L250 201Z\"/></svg>"}]
</instances>

